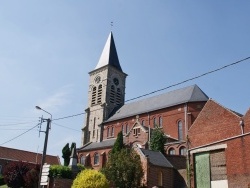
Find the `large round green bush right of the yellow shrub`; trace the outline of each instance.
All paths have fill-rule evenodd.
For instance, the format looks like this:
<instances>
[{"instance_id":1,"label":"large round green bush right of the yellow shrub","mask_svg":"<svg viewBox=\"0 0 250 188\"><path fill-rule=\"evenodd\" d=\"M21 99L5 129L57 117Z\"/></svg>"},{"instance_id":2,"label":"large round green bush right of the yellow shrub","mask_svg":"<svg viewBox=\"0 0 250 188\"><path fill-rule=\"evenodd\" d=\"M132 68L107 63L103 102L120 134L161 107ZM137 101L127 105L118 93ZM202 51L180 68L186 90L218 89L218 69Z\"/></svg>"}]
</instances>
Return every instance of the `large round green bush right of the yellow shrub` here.
<instances>
[{"instance_id":1,"label":"large round green bush right of the yellow shrub","mask_svg":"<svg viewBox=\"0 0 250 188\"><path fill-rule=\"evenodd\" d=\"M111 153L102 172L115 187L119 188L140 187L143 176L140 157L134 150L129 149Z\"/></svg>"}]
</instances>

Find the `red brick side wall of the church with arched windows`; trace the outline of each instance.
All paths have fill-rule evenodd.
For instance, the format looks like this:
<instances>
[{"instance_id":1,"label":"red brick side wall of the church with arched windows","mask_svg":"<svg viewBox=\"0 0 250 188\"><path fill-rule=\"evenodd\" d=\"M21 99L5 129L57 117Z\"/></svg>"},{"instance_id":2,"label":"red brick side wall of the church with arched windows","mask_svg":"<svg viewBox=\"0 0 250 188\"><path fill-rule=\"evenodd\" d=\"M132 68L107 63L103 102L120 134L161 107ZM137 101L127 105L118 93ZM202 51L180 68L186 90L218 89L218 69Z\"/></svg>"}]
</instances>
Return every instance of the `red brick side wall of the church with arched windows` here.
<instances>
[{"instance_id":1,"label":"red brick side wall of the church with arched windows","mask_svg":"<svg viewBox=\"0 0 250 188\"><path fill-rule=\"evenodd\" d=\"M187 114L186 126L190 127L204 104L205 102L181 104L149 113L139 114L133 117L107 122L103 125L103 140L115 139L117 134L123 130L124 143L126 145L137 145L147 149L150 131L152 131L154 128L153 125L156 124L162 127L164 133L169 136L169 143L167 143L165 146L166 153L169 152L169 149L173 149L175 151L175 155L181 155L181 149L186 148L185 113ZM186 112L185 106L187 106ZM178 122L180 121L182 122L183 130L181 142L178 140ZM137 131L136 129L139 130ZM173 141L175 142L173 143ZM108 152L111 150L111 148L112 146L78 151L78 160L81 161L81 158L85 157L85 164L87 166L90 166L94 169L101 169L107 161ZM100 156L98 164L94 164L95 154Z\"/></svg>"}]
</instances>

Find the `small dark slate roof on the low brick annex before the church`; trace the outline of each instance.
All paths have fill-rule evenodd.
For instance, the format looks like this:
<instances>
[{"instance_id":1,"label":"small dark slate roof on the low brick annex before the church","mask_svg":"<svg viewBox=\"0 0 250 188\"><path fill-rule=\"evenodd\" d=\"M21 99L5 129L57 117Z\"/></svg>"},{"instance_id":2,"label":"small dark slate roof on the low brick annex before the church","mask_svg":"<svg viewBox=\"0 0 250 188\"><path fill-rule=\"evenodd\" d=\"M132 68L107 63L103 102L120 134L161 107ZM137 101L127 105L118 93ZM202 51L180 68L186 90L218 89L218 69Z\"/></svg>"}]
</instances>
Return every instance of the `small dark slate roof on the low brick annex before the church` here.
<instances>
[{"instance_id":1,"label":"small dark slate roof on the low brick annex before the church","mask_svg":"<svg viewBox=\"0 0 250 188\"><path fill-rule=\"evenodd\" d=\"M166 159L166 157L159 151L152 151L139 148L141 152L148 156L149 162L156 166L173 168L173 165Z\"/></svg>"}]
</instances>

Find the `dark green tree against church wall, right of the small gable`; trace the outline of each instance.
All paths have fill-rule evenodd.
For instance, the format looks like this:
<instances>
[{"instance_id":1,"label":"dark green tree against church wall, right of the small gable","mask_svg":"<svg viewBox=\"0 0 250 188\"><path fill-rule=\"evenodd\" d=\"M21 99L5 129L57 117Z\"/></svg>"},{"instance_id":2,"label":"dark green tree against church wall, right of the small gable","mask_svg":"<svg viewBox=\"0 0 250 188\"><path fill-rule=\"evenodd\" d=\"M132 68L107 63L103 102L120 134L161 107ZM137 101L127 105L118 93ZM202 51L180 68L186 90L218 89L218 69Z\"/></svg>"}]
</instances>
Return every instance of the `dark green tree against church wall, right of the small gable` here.
<instances>
[{"instance_id":1,"label":"dark green tree against church wall, right of the small gable","mask_svg":"<svg viewBox=\"0 0 250 188\"><path fill-rule=\"evenodd\" d=\"M164 135L164 132L158 127L155 128L150 139L150 149L153 151L160 151L162 154L165 154L165 142L166 137Z\"/></svg>"}]
</instances>

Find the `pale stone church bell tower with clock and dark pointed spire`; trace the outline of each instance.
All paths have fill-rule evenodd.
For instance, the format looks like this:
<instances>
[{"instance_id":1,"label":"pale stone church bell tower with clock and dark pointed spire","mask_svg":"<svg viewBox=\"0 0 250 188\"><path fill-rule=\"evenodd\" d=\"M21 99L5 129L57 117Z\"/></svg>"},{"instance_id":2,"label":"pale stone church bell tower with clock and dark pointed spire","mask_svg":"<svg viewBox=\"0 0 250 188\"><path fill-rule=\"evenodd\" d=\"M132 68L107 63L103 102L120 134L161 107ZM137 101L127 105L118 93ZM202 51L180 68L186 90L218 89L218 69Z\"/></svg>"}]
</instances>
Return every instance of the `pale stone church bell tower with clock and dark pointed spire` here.
<instances>
[{"instance_id":1,"label":"pale stone church bell tower with clock and dark pointed spire","mask_svg":"<svg viewBox=\"0 0 250 188\"><path fill-rule=\"evenodd\" d=\"M102 122L125 100L126 76L122 71L112 32L102 51L99 62L89 72L88 107L82 129L82 145L102 140Z\"/></svg>"}]
</instances>

